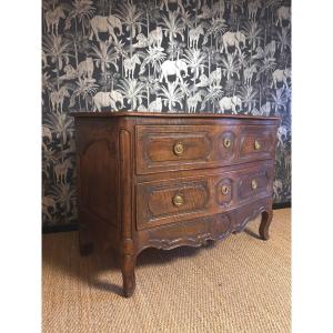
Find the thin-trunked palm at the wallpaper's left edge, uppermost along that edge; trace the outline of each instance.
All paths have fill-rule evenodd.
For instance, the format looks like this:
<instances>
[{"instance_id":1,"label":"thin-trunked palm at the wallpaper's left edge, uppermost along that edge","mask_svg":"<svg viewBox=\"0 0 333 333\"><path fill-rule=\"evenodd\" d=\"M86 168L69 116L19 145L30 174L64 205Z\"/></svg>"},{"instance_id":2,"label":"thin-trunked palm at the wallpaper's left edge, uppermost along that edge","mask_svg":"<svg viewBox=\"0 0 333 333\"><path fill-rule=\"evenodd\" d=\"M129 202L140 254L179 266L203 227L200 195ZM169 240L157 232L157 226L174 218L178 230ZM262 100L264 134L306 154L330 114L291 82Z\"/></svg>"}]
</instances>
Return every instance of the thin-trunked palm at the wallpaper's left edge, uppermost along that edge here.
<instances>
[{"instance_id":1,"label":"thin-trunked palm at the wallpaper's left edge, uppermost along that edge","mask_svg":"<svg viewBox=\"0 0 333 333\"><path fill-rule=\"evenodd\" d=\"M59 71L62 70L63 63L68 64L72 57L70 53L70 41L64 40L62 36L46 34L43 36L42 49L51 63L56 64L57 87L59 90Z\"/></svg>"}]
</instances>

